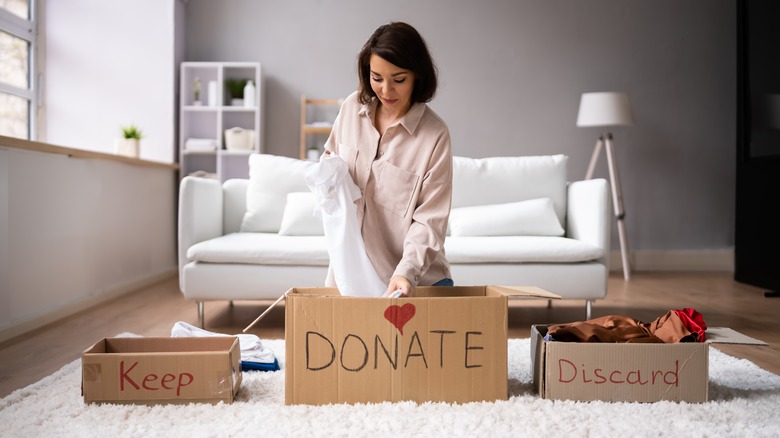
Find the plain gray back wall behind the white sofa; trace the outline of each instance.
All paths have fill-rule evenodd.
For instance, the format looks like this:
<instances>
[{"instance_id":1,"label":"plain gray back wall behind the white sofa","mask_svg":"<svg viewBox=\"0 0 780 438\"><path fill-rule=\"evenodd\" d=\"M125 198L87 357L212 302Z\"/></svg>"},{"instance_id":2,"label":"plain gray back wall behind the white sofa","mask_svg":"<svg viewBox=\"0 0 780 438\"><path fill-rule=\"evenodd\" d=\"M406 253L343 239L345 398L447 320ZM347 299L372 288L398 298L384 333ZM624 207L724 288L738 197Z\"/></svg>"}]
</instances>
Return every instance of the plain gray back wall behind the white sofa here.
<instances>
[{"instance_id":1,"label":"plain gray back wall behind the white sofa","mask_svg":"<svg viewBox=\"0 0 780 438\"><path fill-rule=\"evenodd\" d=\"M570 156L581 179L599 134L581 93L627 91L616 128L632 250L734 245L736 7L727 0L188 0L187 61L259 61L266 152L296 156L299 101L355 89L380 24L414 25L440 69L431 103L456 155ZM596 176L607 177L601 157ZM617 238L613 236L613 247Z\"/></svg>"}]
</instances>

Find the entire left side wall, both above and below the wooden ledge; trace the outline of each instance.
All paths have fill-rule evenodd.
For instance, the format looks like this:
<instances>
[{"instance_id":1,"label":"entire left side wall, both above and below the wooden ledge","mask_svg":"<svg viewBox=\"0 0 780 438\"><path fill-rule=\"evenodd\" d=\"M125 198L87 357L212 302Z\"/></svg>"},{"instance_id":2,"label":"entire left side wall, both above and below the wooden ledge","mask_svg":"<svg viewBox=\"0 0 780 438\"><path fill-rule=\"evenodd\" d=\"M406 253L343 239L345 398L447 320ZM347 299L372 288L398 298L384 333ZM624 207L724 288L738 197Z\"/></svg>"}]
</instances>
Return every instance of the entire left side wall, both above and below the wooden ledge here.
<instances>
[{"instance_id":1,"label":"entire left side wall, both above and below the wooden ledge","mask_svg":"<svg viewBox=\"0 0 780 438\"><path fill-rule=\"evenodd\" d=\"M41 0L40 141L176 157L181 0ZM177 172L0 144L0 341L176 272Z\"/></svg>"}]
</instances>

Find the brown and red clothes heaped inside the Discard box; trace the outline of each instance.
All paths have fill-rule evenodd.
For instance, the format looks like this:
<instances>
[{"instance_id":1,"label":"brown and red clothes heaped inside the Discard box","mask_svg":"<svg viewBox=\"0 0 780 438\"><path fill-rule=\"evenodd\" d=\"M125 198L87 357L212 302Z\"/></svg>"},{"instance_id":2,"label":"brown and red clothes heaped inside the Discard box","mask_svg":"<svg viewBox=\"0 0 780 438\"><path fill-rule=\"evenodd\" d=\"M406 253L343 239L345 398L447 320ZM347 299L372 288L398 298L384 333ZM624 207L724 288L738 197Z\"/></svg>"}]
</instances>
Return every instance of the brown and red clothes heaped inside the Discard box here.
<instances>
[{"instance_id":1,"label":"brown and red clothes heaped inside the Discard box","mask_svg":"<svg viewBox=\"0 0 780 438\"><path fill-rule=\"evenodd\" d=\"M545 339L561 342L676 343L704 342L707 324L695 309L670 310L653 322L609 315L547 328Z\"/></svg>"}]
</instances>

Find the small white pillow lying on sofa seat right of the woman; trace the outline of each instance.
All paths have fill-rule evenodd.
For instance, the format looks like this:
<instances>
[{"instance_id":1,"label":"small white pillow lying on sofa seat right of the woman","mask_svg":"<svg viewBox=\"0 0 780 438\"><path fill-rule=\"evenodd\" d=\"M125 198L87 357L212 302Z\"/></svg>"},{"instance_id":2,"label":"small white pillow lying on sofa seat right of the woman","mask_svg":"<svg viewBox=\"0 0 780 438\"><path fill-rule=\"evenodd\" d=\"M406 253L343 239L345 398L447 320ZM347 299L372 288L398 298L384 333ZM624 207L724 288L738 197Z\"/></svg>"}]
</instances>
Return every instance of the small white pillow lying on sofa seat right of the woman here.
<instances>
[{"instance_id":1,"label":"small white pillow lying on sofa seat right of the woman","mask_svg":"<svg viewBox=\"0 0 780 438\"><path fill-rule=\"evenodd\" d=\"M550 198L453 208L452 236L563 236Z\"/></svg>"}]
</instances>

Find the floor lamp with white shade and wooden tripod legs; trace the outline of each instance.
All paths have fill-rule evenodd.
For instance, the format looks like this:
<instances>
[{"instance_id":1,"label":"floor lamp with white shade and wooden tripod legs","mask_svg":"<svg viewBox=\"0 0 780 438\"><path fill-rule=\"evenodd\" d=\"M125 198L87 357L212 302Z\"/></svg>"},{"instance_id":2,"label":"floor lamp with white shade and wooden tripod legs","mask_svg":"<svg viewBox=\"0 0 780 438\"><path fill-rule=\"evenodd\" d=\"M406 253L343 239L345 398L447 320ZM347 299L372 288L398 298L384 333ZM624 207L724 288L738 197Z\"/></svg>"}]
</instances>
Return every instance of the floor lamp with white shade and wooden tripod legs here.
<instances>
[{"instance_id":1,"label":"floor lamp with white shade and wooden tripod legs","mask_svg":"<svg viewBox=\"0 0 780 438\"><path fill-rule=\"evenodd\" d=\"M593 149L593 156L590 159L585 179L593 177L593 170L599 160L601 150L605 149L609 167L609 179L612 183L612 205L615 210L618 237L620 238L623 278L626 280L631 278L631 264L628 259L628 237L626 236L626 212L623 209L623 194L620 189L620 175L618 174L618 165L615 159L615 146L612 142L612 133L608 132L607 128L633 124L634 115L626 93L603 92L584 93L582 95L580 111L577 115L577 126L603 128L601 136L596 140L596 147Z\"/></svg>"}]
</instances>

